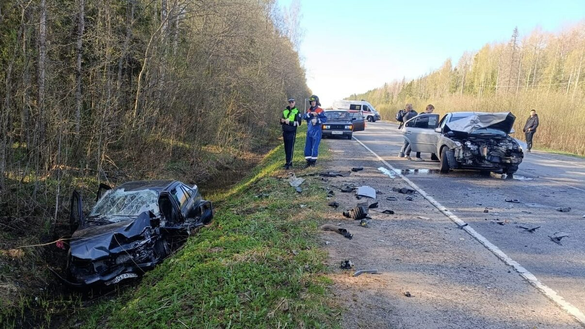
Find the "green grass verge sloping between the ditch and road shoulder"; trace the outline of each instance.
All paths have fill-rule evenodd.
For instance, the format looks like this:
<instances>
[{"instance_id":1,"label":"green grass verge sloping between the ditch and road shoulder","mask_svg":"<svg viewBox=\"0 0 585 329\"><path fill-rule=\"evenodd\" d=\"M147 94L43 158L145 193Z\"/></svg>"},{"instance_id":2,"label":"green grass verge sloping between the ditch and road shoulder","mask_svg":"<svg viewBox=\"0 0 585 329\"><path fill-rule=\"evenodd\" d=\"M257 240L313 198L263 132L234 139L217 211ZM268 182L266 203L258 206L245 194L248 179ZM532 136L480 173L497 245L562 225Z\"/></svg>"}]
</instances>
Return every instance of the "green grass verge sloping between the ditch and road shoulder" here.
<instances>
[{"instance_id":1,"label":"green grass verge sloping between the ditch and road shoulder","mask_svg":"<svg viewBox=\"0 0 585 329\"><path fill-rule=\"evenodd\" d=\"M304 132L295 163L302 165ZM326 152L322 145L321 156ZM338 327L318 248L326 196L317 183L297 194L285 180L283 146L232 189L212 196L210 227L147 273L135 289L82 311L85 328ZM257 198L265 193L269 197ZM300 204L307 207L301 208ZM295 253L292 251L295 250Z\"/></svg>"}]
</instances>

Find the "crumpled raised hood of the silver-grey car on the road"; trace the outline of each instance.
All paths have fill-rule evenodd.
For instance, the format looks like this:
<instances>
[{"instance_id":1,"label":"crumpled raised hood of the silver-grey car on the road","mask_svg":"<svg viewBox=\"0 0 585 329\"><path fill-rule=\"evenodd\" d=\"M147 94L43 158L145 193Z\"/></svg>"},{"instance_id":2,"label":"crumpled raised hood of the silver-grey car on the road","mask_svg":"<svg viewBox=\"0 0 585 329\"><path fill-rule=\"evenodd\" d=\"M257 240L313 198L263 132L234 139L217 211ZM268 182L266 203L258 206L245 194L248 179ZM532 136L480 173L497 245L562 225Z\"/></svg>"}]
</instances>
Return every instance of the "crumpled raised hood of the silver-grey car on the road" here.
<instances>
[{"instance_id":1,"label":"crumpled raised hood of the silver-grey car on the road","mask_svg":"<svg viewBox=\"0 0 585 329\"><path fill-rule=\"evenodd\" d=\"M476 113L467 118L445 124L445 132L472 133L476 129L491 128L503 131L508 135L512 131L516 116L512 112Z\"/></svg>"}]
</instances>

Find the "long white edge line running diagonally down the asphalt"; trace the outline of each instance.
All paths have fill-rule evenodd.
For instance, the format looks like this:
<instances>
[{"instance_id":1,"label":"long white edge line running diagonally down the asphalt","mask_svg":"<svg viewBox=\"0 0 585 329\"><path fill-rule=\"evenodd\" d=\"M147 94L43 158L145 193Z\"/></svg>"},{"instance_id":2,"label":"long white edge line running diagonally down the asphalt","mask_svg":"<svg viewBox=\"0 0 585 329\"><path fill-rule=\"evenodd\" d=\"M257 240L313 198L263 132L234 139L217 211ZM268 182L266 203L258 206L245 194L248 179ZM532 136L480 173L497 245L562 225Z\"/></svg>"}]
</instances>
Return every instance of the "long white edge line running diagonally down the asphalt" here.
<instances>
[{"instance_id":1,"label":"long white edge line running diagonally down the asphalt","mask_svg":"<svg viewBox=\"0 0 585 329\"><path fill-rule=\"evenodd\" d=\"M395 169L393 166L390 165L390 163L386 162L386 160L382 159L373 150L368 148L364 143L362 143L361 140L355 138L355 136L353 137L353 139L357 140L357 142L360 143L364 148L366 148L366 150L369 150L371 152L371 154L376 156L378 158L378 160L380 160L380 162L384 163L384 165L386 165L386 167L388 167L388 169L392 170L396 174L396 176L398 176L402 180L406 181L413 189L415 189L419 194L421 194L422 197L424 197L432 205L434 205L439 211L441 211L443 214L445 214L447 217L449 217L450 220L455 222L457 225L466 224L464 221L460 220L459 217L457 217L455 214L450 212L447 208L443 207L442 204L438 203L438 201L436 201L433 197L426 194L426 192L424 190L422 190L420 187L418 187L417 184L412 183L411 180L409 180L407 177L405 177L403 174L400 173L400 170ZM563 299L563 297L559 296L559 294L557 292L555 292L555 290L552 290L548 286L543 285L543 283L540 282L540 280L538 280L536 278L536 276L534 276L531 272L529 272L527 269L525 269L518 262L511 259L510 256L506 255L503 251L501 251L500 248L498 248L497 246L492 244L490 241L488 241L488 239L486 239L483 235L479 234L476 230L469 227L469 225L467 225L466 227L463 227L462 229L467 231L467 233L469 233L474 239L479 241L480 244L483 244L484 246L486 246L486 248L489 249L491 252L493 252L494 255L497 256L497 258L500 258L501 261L503 261L507 265L512 266L512 268L514 268L514 270L516 270L516 272L518 272L519 275L524 277L524 279L526 279L532 286L534 286L534 287L536 287L536 289L540 290L543 294L545 294L546 297L548 297L550 300L552 300L558 306L560 306L563 310L567 311L567 313L569 313L574 318L576 318L577 321L579 321L579 323L581 323L581 325L585 326L585 314L583 314L579 309L577 309L577 307L573 306L573 304L569 303L568 301Z\"/></svg>"}]
</instances>

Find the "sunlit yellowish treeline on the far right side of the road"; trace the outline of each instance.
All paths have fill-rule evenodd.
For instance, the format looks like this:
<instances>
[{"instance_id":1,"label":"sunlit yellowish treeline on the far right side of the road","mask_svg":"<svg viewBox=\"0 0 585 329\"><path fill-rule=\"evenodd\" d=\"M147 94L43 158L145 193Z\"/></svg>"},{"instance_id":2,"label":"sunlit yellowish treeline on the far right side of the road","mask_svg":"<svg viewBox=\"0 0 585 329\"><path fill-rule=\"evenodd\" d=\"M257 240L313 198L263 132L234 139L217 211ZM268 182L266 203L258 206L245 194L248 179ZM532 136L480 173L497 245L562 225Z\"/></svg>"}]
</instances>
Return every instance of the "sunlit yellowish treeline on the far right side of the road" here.
<instances>
[{"instance_id":1,"label":"sunlit yellowish treeline on the far right side of the road","mask_svg":"<svg viewBox=\"0 0 585 329\"><path fill-rule=\"evenodd\" d=\"M365 99L393 119L412 102L417 111L433 104L451 111L511 111L521 132L528 111L536 109L541 126L535 146L585 155L585 21L558 33L536 29L508 42L486 44L450 59L424 76L393 81L348 99ZM524 138L522 133L515 137Z\"/></svg>"}]
</instances>

